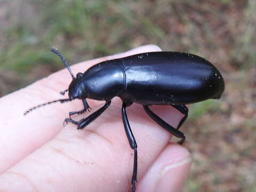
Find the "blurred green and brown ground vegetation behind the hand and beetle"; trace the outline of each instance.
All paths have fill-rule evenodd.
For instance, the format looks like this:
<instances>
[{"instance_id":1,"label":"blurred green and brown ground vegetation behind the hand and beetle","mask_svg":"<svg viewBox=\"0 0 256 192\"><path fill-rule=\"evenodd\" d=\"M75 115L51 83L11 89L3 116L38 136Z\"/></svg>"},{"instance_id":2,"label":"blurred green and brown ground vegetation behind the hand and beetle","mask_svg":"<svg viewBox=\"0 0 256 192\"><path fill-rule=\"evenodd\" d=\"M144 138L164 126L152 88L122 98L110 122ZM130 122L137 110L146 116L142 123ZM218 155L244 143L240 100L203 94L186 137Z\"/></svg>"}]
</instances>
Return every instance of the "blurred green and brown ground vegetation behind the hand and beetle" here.
<instances>
[{"instance_id":1,"label":"blurred green and brown ground vegetation behind the hand and beetle","mask_svg":"<svg viewBox=\"0 0 256 192\"><path fill-rule=\"evenodd\" d=\"M256 1L0 0L0 96L69 63L145 44L201 55L223 73L218 101L183 126L194 164L183 191L256 191Z\"/></svg>"}]
</instances>

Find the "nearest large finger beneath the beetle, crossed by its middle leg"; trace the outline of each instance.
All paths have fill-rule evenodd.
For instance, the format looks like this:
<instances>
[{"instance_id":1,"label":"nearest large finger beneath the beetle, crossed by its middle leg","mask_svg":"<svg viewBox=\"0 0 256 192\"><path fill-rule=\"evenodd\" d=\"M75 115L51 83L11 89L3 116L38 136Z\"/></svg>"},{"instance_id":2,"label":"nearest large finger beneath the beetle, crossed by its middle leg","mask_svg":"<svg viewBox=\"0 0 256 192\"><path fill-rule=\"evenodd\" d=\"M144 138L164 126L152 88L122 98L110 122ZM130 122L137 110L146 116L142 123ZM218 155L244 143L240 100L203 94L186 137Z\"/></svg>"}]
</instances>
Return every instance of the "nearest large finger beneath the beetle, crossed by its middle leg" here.
<instances>
[{"instance_id":1,"label":"nearest large finger beneath the beetle, crossed by its middle leg","mask_svg":"<svg viewBox=\"0 0 256 192\"><path fill-rule=\"evenodd\" d=\"M129 191L134 154L120 112L120 107L111 105L84 130L68 124L54 139L0 175L0 191ZM170 134L141 114L145 114L141 105L127 108L138 144L138 181L170 140Z\"/></svg>"}]
</instances>

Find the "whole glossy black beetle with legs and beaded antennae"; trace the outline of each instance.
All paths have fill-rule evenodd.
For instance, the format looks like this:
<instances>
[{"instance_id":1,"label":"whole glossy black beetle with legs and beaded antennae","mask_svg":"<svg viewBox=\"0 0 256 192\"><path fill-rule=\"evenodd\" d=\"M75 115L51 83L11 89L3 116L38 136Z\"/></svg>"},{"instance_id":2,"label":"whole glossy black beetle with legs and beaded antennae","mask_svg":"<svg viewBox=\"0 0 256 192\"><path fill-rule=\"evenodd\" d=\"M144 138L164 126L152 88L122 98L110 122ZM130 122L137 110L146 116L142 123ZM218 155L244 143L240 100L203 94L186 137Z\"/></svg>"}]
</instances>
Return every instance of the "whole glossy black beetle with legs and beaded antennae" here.
<instances>
[{"instance_id":1,"label":"whole glossy black beetle with legs and beaded antennae","mask_svg":"<svg viewBox=\"0 0 256 192\"><path fill-rule=\"evenodd\" d=\"M179 143L182 144L185 141L185 135L179 131L179 128L188 116L188 108L185 105L206 99L219 99L225 89L218 69L209 61L194 54L182 52L140 53L98 63L84 74L78 73L74 77L66 59L57 49L52 48L51 51L59 55L73 79L68 90L60 92L65 94L68 91L69 98L43 103L30 108L24 115L53 102L62 103L81 99L84 108L70 112L69 118L66 118L65 122L74 123L77 125L77 129L83 129L109 107L111 99L116 96L121 98L124 129L130 146L134 150L133 192L135 191L135 182L137 182L137 143L127 119L126 107L132 105L133 102L141 104L149 117L175 137L181 138ZM71 119L71 115L82 114L90 109L86 98L105 100L106 103L88 117L79 122L74 121ZM153 113L148 107L151 105L171 105L184 117L175 129Z\"/></svg>"}]
</instances>

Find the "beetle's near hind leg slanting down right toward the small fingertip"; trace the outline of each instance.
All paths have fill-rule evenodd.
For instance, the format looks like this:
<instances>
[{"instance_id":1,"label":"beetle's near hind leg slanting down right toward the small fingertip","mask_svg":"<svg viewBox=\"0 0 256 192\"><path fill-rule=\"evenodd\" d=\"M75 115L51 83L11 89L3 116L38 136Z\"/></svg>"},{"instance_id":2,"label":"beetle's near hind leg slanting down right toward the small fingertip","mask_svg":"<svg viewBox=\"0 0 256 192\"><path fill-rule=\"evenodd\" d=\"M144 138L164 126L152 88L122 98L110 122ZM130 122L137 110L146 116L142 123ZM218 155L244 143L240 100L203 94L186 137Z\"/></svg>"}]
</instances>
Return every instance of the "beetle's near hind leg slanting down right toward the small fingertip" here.
<instances>
[{"instance_id":1,"label":"beetle's near hind leg slanting down right toward the small fingertip","mask_svg":"<svg viewBox=\"0 0 256 192\"><path fill-rule=\"evenodd\" d=\"M181 138L181 140L178 142L180 145L185 141L186 137L181 131L175 129L173 126L169 125L163 119L158 117L155 113L153 113L153 111L149 109L147 105L143 105L143 107L148 116L151 117L158 125L163 127L166 131L172 133L175 137Z\"/></svg>"}]
</instances>

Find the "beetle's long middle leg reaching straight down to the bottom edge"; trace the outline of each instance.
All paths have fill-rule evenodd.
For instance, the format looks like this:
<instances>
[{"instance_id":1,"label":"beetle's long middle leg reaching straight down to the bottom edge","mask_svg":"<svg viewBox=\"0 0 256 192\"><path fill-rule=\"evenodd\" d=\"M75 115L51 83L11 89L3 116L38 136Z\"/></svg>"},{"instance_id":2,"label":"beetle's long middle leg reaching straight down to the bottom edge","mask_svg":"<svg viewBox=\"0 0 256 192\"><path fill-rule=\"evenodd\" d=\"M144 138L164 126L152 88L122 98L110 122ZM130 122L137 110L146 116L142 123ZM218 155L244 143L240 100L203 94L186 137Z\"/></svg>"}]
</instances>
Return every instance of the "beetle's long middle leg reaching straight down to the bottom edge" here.
<instances>
[{"instance_id":1,"label":"beetle's long middle leg reaching straight down to the bottom edge","mask_svg":"<svg viewBox=\"0 0 256 192\"><path fill-rule=\"evenodd\" d=\"M134 150L134 160L133 160L133 173L132 173L132 192L135 192L135 183L137 182L137 165L138 165L138 159L137 159L137 143L135 141L135 138L132 134L132 130L127 118L126 114L126 103L123 102L122 106L122 120L124 123L124 130L127 136L127 139L129 141L130 147Z\"/></svg>"}]
</instances>

